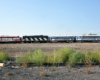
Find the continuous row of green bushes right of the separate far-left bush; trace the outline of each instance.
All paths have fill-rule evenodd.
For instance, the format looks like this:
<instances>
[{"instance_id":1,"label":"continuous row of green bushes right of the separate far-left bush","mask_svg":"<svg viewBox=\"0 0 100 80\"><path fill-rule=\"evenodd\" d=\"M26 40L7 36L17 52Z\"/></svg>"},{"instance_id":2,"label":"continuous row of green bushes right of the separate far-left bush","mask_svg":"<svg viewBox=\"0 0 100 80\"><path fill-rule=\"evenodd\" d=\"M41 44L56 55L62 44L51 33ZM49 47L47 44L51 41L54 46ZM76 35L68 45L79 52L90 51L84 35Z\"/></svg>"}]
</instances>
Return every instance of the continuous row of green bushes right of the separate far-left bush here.
<instances>
[{"instance_id":1,"label":"continuous row of green bushes right of the separate far-left bush","mask_svg":"<svg viewBox=\"0 0 100 80\"><path fill-rule=\"evenodd\" d=\"M64 62L67 62L70 66L75 66L76 63L85 63L89 67L92 62L100 63L100 51L88 51L85 53L77 52L70 48L62 48L58 51L54 49L54 52L48 55L38 49L34 52L28 51L22 57L16 58L16 62L23 63L24 67L27 67L28 63L35 63L38 66L42 66L44 63L51 63L54 66L57 63Z\"/></svg>"}]
</instances>

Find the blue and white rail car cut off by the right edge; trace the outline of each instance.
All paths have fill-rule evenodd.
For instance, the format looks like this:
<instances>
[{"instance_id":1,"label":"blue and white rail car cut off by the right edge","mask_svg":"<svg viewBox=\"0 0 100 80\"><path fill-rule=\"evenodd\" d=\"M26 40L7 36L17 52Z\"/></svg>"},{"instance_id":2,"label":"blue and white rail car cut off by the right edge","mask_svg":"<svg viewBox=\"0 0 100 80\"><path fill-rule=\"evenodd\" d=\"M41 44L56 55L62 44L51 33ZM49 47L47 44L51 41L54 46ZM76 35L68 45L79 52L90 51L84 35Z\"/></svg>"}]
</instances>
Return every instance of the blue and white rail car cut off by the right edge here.
<instances>
[{"instance_id":1,"label":"blue and white rail car cut off by the right edge","mask_svg":"<svg viewBox=\"0 0 100 80\"><path fill-rule=\"evenodd\" d=\"M97 34L85 34L76 36L76 42L100 42L100 36Z\"/></svg>"}]
</instances>

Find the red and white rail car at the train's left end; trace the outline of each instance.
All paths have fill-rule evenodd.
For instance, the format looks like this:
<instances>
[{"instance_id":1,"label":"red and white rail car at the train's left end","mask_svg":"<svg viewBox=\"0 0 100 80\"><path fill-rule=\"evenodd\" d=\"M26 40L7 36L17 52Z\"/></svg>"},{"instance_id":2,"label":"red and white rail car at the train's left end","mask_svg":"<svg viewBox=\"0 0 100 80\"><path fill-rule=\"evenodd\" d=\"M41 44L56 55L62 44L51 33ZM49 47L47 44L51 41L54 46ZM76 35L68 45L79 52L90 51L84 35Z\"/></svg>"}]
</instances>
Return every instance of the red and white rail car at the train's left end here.
<instances>
[{"instance_id":1,"label":"red and white rail car at the train's left end","mask_svg":"<svg viewBox=\"0 0 100 80\"><path fill-rule=\"evenodd\" d=\"M0 36L0 43L13 42L21 43L22 38L19 36Z\"/></svg>"}]
</instances>

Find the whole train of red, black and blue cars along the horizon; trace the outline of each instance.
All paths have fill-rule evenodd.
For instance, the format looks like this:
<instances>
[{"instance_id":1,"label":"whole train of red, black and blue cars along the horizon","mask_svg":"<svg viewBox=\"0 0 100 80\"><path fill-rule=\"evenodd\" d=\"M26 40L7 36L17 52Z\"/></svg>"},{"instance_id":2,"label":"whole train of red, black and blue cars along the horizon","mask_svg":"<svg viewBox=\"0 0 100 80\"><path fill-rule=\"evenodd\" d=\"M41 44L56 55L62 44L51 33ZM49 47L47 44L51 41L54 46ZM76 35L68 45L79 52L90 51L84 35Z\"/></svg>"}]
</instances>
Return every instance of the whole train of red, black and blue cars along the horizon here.
<instances>
[{"instance_id":1,"label":"whole train of red, black and blue cars along the horizon","mask_svg":"<svg viewBox=\"0 0 100 80\"><path fill-rule=\"evenodd\" d=\"M0 43L54 43L54 42L100 42L100 36L97 34L85 34L81 36L47 36L47 35L32 35L32 36L0 36Z\"/></svg>"}]
</instances>

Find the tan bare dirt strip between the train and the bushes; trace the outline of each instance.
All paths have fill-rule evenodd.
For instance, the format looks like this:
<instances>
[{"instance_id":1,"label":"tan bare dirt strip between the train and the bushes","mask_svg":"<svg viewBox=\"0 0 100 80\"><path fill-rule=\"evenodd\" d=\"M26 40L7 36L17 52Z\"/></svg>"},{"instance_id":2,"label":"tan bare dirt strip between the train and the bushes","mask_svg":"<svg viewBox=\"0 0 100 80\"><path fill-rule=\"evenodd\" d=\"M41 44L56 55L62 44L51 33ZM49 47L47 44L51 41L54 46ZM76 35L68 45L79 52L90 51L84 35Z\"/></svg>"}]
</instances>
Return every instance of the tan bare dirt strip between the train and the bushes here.
<instances>
[{"instance_id":1,"label":"tan bare dirt strip between the train and the bushes","mask_svg":"<svg viewBox=\"0 0 100 80\"><path fill-rule=\"evenodd\" d=\"M24 43L24 44L0 44L0 51L6 51L11 57L19 57L27 51L41 49L44 53L52 53L54 48L73 48L76 51L100 50L100 43Z\"/></svg>"}]
</instances>

